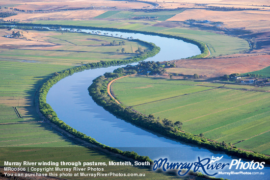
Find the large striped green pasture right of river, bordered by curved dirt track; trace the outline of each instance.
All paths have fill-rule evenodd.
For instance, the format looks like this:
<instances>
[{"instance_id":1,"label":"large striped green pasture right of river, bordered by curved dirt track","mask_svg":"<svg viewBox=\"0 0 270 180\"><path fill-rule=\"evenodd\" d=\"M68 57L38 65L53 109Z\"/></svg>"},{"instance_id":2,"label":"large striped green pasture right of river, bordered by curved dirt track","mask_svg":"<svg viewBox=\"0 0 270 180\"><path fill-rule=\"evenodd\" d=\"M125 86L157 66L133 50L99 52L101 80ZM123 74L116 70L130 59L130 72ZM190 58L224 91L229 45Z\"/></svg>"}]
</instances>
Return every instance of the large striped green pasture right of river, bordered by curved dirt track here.
<instances>
[{"instance_id":1,"label":"large striped green pasture right of river, bordered by curved dirt track","mask_svg":"<svg viewBox=\"0 0 270 180\"><path fill-rule=\"evenodd\" d=\"M270 139L266 136L270 129L268 89L257 91L254 86L125 77L115 81L112 90L121 103L146 115L180 121L185 131L270 153ZM258 138L264 141L257 142Z\"/></svg>"}]
</instances>

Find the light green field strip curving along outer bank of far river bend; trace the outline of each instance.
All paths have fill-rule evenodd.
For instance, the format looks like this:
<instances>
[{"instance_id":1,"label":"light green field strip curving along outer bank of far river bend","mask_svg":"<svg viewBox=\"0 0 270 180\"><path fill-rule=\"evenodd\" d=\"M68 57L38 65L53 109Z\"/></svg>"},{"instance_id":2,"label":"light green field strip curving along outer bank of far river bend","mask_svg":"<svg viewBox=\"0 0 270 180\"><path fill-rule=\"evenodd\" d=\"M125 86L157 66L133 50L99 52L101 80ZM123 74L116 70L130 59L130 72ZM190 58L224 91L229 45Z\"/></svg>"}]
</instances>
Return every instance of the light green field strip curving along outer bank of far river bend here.
<instances>
[{"instance_id":1,"label":"light green field strip curving along outer bank of far river bend","mask_svg":"<svg viewBox=\"0 0 270 180\"><path fill-rule=\"evenodd\" d=\"M121 12L123 13L123 12ZM117 13L116 13L117 14ZM34 21L37 24L55 24L55 25L77 25L77 26L98 26L98 27L114 27L124 28L148 32L161 32L164 34L171 34L176 36L183 36L191 39L195 39L207 44L211 51L211 56L219 56L225 54L234 54L239 51L249 49L248 42L238 37L226 36L216 34L213 32L203 30L191 30L188 28L181 27L170 27L170 26L158 26L156 22L151 21L89 21L89 22L72 22L72 21Z\"/></svg>"}]
</instances>

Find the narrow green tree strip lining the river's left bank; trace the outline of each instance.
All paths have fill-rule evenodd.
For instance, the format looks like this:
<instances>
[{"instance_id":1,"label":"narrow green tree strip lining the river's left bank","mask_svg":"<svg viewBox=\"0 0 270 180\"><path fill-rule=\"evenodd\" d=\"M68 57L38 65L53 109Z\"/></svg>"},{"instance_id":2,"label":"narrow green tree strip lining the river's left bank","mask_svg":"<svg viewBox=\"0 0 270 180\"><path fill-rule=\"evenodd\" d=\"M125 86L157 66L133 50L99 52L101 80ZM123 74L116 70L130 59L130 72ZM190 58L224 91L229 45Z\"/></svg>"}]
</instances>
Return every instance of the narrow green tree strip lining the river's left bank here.
<instances>
[{"instance_id":1,"label":"narrow green tree strip lining the river's left bank","mask_svg":"<svg viewBox=\"0 0 270 180\"><path fill-rule=\"evenodd\" d=\"M136 41L139 41L139 40L136 40ZM103 145L103 144L97 142L95 139L91 138L90 136L87 136L87 135L81 133L80 131L77 131L76 129L68 126L63 121L58 119L56 113L54 112L54 110L52 109L50 104L46 103L46 95L47 95L49 89L60 79L67 77L67 76L70 76L75 72L80 72L80 71L85 70L85 69L98 68L98 67L102 67L102 66L109 66L109 65L119 64L119 63L122 63L122 64L123 63L131 63L131 62L143 60L147 57L154 56L155 54L157 54L160 51L160 48L157 47L156 45L154 45L153 43L149 43L149 46L151 47L151 51L146 51L144 53L141 53L141 54L133 57L132 59L122 60L122 61L115 60L115 61L101 61L101 62L97 62L97 63L88 63L84 66L79 66L79 67L71 68L71 69L66 70L64 72L55 73L54 76L51 77L48 81L46 81L39 90L40 112L47 119L49 119L51 122L53 122L55 125L59 126L61 129L64 129L67 132L71 133L72 135L79 137L87 142L101 146L105 149L108 149L108 150L114 152L114 153L123 154L125 156L132 157L132 158L137 159L137 160L150 161L148 156L139 156L135 152L123 152L121 150L108 147L106 145Z\"/></svg>"}]
</instances>

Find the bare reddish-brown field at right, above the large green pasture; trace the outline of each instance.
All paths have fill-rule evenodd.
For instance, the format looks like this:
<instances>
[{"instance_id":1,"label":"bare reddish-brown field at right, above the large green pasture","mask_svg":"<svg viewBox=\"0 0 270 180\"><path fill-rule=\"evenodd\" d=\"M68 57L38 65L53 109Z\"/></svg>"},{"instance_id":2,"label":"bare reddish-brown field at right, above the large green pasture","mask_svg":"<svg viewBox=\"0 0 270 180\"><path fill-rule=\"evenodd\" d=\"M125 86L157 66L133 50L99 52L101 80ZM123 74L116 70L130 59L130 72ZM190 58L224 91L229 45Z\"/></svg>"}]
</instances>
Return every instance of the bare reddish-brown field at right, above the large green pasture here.
<instances>
[{"instance_id":1,"label":"bare reddish-brown field at right, above the large green pasture","mask_svg":"<svg viewBox=\"0 0 270 180\"><path fill-rule=\"evenodd\" d=\"M175 62L176 68L168 68L167 73L184 75L205 75L219 77L232 73L248 73L261 70L270 65L270 55L250 55L232 58L180 59Z\"/></svg>"}]
</instances>

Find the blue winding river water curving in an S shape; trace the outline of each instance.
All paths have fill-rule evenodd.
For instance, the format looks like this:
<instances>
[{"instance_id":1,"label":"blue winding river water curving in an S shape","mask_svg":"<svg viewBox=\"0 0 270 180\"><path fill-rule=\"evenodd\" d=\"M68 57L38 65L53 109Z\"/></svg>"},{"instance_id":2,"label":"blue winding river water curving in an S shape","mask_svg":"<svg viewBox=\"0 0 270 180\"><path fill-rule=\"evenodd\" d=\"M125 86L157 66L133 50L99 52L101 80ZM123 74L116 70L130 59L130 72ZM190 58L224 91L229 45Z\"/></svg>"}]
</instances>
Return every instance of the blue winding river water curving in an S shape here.
<instances>
[{"instance_id":1,"label":"blue winding river water curving in an S shape","mask_svg":"<svg viewBox=\"0 0 270 180\"><path fill-rule=\"evenodd\" d=\"M92 30L83 29L85 32ZM96 30L95 30L96 31ZM160 36L151 36L144 34L123 33L101 31L102 34L108 33L122 35L123 38L133 37L143 41L153 42L161 47L161 51L155 56L148 58L154 61L168 61L180 58L190 57L200 53L197 46L185 43L181 40L165 38ZM133 63L135 65L136 63ZM146 130L140 129L130 123L116 118L108 111L98 106L88 94L87 88L92 80L106 72L113 72L122 66L111 66L107 68L98 68L85 70L75 73L72 76L65 77L57 82L47 95L49 103L57 113L59 119L69 126L95 138L98 142L116 147L123 151L135 151L139 155L147 155L152 160L159 158L168 158L170 162L198 162L198 157L212 158L222 157L221 163L231 163L231 157L219 152L212 152L204 148L196 147L182 142L156 135ZM242 160L243 161L243 160ZM249 161L248 161L249 162ZM192 169L191 169L192 170ZM222 172L263 172L264 175L215 175L214 177L227 178L230 180L270 180L270 168L263 170L236 170L229 169L226 166L222 170L207 170L209 174ZM201 171L205 174L203 171Z\"/></svg>"}]
</instances>

